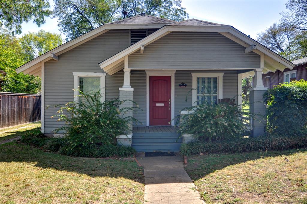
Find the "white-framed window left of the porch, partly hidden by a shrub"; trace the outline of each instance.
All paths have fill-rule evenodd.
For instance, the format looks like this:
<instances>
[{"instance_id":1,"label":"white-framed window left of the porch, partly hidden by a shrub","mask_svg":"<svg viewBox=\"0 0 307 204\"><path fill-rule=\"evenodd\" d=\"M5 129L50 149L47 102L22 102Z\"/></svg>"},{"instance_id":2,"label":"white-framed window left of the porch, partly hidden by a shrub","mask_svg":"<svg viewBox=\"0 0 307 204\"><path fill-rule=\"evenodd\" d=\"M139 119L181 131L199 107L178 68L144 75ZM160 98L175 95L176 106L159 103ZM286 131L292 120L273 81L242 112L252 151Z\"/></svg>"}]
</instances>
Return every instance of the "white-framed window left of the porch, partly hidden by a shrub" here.
<instances>
[{"instance_id":1,"label":"white-framed window left of the porch, partly hidden by a shrub","mask_svg":"<svg viewBox=\"0 0 307 204\"><path fill-rule=\"evenodd\" d=\"M74 75L74 100L78 100L78 89L85 94L101 91L101 101L105 100L105 76L106 73L73 72Z\"/></svg>"}]
</instances>

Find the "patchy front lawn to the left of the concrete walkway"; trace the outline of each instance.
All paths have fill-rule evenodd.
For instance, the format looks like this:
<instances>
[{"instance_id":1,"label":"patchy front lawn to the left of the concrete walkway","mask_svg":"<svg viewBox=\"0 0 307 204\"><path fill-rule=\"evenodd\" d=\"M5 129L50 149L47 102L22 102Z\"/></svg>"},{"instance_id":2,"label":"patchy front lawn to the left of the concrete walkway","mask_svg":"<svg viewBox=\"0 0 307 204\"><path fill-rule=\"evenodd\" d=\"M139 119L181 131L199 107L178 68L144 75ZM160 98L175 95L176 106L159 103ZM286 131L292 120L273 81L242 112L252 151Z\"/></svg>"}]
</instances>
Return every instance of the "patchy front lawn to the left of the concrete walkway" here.
<instances>
[{"instance_id":1,"label":"patchy front lawn to the left of the concrete walkway","mask_svg":"<svg viewBox=\"0 0 307 204\"><path fill-rule=\"evenodd\" d=\"M133 158L77 158L11 142L0 145L0 203L142 203Z\"/></svg>"}]
</instances>

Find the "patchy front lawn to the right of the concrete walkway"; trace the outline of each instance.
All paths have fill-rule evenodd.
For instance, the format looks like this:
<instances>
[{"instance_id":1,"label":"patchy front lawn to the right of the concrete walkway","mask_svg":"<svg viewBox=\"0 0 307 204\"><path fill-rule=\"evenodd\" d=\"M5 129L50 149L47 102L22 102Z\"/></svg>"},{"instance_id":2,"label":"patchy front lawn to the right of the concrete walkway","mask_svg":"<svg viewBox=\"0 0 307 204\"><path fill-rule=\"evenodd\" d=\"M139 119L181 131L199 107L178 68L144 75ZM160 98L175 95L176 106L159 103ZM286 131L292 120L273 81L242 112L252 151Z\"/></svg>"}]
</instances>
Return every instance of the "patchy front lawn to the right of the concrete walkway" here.
<instances>
[{"instance_id":1,"label":"patchy front lawn to the right of the concrete walkway","mask_svg":"<svg viewBox=\"0 0 307 204\"><path fill-rule=\"evenodd\" d=\"M185 169L207 204L307 203L307 149L191 156Z\"/></svg>"}]
</instances>

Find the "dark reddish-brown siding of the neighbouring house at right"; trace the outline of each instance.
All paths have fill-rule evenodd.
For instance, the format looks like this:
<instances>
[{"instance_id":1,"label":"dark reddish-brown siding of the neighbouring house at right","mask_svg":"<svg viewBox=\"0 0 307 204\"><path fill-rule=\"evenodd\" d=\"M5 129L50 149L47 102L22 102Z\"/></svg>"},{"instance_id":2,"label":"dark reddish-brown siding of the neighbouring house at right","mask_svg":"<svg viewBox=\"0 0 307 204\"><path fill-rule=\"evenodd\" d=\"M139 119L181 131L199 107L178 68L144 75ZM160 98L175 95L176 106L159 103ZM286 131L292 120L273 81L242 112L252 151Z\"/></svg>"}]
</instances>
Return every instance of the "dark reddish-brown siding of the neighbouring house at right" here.
<instances>
[{"instance_id":1,"label":"dark reddish-brown siding of the neighbouring house at right","mask_svg":"<svg viewBox=\"0 0 307 204\"><path fill-rule=\"evenodd\" d=\"M306 68L307 68L307 65L299 65L292 69L292 70L297 70L296 71L297 80L301 80L301 79L307 80L307 69ZM284 70L284 72L288 72L288 71L291 71L291 70L288 68ZM284 83L284 73L279 70L277 70L275 73L269 72L267 74L262 74L263 84L264 84L265 77L267 76L271 76L271 85L269 88L274 88L274 86Z\"/></svg>"}]
</instances>

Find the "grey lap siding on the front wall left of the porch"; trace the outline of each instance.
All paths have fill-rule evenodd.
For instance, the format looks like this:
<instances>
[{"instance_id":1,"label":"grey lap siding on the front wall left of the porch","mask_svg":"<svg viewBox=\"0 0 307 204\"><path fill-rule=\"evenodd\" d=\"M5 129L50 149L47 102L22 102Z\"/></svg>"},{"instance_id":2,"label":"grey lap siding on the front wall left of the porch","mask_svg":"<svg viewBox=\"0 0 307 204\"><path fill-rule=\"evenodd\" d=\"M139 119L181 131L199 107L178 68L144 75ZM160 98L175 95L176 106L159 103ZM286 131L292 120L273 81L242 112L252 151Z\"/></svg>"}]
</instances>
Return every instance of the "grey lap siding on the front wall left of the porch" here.
<instances>
[{"instance_id":1,"label":"grey lap siding on the front wall left of the porch","mask_svg":"<svg viewBox=\"0 0 307 204\"><path fill-rule=\"evenodd\" d=\"M129 30L108 31L59 56L59 61L45 62L45 106L73 101L74 77L72 72L103 72L98 63L130 45ZM119 96L123 73L106 76L106 99ZM63 125L56 118L59 108L45 109L45 133Z\"/></svg>"}]
</instances>

